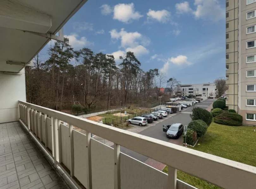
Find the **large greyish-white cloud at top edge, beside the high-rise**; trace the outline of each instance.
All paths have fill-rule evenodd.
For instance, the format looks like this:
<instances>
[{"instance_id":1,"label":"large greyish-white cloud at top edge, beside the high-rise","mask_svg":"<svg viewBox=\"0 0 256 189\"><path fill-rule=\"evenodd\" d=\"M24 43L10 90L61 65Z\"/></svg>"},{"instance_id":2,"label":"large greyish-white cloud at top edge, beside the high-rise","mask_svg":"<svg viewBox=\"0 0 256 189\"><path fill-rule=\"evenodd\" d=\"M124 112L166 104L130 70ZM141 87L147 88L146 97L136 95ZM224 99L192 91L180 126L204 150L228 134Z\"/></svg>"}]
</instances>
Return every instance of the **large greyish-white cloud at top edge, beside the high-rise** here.
<instances>
[{"instance_id":1,"label":"large greyish-white cloud at top edge, beside the high-rise","mask_svg":"<svg viewBox=\"0 0 256 189\"><path fill-rule=\"evenodd\" d=\"M225 19L225 9L218 0L195 0L197 9L193 12L197 19L219 21Z\"/></svg>"}]
</instances>

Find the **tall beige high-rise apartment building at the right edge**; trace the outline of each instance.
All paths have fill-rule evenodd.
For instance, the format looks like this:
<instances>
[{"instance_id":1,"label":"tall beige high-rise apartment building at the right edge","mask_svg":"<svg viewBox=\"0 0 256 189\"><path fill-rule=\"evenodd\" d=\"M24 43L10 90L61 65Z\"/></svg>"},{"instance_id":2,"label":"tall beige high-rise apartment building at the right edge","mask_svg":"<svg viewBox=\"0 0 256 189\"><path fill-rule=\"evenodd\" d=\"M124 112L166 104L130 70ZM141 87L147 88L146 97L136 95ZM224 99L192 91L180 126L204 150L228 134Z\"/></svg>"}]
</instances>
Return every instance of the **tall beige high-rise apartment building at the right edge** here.
<instances>
[{"instance_id":1,"label":"tall beige high-rise apartment building at the right edge","mask_svg":"<svg viewBox=\"0 0 256 189\"><path fill-rule=\"evenodd\" d=\"M226 1L226 104L256 124L256 0Z\"/></svg>"}]
</instances>

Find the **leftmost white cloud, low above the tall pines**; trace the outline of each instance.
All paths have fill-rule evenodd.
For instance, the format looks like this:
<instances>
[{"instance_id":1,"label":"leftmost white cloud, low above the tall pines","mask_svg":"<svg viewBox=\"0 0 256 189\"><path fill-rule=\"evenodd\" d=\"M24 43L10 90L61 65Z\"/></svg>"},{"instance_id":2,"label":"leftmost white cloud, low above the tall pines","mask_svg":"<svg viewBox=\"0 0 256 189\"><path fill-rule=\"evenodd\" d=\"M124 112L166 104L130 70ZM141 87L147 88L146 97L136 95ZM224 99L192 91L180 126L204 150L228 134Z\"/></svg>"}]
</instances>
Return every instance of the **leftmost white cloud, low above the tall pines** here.
<instances>
[{"instance_id":1,"label":"leftmost white cloud, low above the tall pines","mask_svg":"<svg viewBox=\"0 0 256 189\"><path fill-rule=\"evenodd\" d=\"M81 49L83 47L88 47L94 44L93 42L88 41L86 37L79 37L77 34L64 35L64 37L69 39L69 44L74 49Z\"/></svg>"}]
</instances>

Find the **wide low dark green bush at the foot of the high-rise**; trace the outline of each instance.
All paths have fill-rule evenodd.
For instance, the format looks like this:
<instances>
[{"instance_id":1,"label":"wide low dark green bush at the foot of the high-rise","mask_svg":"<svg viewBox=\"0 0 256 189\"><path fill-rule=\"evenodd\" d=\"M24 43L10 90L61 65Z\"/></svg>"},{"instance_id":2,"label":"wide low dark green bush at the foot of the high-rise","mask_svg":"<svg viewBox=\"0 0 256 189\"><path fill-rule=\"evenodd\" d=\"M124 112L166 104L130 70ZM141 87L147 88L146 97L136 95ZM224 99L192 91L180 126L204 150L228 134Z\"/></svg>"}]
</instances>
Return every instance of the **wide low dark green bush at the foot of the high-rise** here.
<instances>
[{"instance_id":1,"label":"wide low dark green bush at the foot of the high-rise","mask_svg":"<svg viewBox=\"0 0 256 189\"><path fill-rule=\"evenodd\" d=\"M229 125L229 126L241 126L243 123L243 117L237 113L223 112L222 114L214 117L214 123Z\"/></svg>"}]
</instances>

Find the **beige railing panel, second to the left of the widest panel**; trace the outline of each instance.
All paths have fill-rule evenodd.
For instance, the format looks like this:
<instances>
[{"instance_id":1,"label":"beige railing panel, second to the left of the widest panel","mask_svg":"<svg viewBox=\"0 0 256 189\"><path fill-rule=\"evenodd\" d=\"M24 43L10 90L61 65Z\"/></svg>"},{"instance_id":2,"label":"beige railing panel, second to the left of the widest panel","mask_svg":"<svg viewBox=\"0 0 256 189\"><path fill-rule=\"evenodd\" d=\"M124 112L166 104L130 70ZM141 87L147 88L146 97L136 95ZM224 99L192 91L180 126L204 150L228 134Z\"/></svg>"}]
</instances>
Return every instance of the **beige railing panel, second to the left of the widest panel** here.
<instances>
[{"instance_id":1,"label":"beige railing panel, second to the left of the widest panel","mask_svg":"<svg viewBox=\"0 0 256 189\"><path fill-rule=\"evenodd\" d=\"M73 130L74 139L74 171L75 177L85 188L88 188L87 181L87 152L86 152L86 135Z\"/></svg>"}]
</instances>

